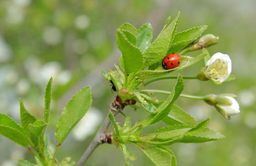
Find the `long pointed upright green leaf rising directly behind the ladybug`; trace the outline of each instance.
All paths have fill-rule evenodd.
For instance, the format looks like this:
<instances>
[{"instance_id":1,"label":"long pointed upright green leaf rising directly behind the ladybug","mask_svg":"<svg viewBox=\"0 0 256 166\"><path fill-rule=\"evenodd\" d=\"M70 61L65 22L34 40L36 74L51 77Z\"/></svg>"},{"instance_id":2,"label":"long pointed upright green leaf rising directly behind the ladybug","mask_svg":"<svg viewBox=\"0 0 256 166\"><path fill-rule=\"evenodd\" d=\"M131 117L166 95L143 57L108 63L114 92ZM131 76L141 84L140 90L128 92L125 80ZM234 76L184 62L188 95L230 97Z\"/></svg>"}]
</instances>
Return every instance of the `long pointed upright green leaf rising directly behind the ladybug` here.
<instances>
[{"instance_id":1,"label":"long pointed upright green leaf rising directly behind the ladybug","mask_svg":"<svg viewBox=\"0 0 256 166\"><path fill-rule=\"evenodd\" d=\"M179 21L180 13L172 21L172 23L159 34L159 36L154 40L154 42L147 48L145 54L143 55L144 64L143 67L147 67L162 61L166 56L166 53L172 43L172 37L175 33L175 27Z\"/></svg>"}]
</instances>

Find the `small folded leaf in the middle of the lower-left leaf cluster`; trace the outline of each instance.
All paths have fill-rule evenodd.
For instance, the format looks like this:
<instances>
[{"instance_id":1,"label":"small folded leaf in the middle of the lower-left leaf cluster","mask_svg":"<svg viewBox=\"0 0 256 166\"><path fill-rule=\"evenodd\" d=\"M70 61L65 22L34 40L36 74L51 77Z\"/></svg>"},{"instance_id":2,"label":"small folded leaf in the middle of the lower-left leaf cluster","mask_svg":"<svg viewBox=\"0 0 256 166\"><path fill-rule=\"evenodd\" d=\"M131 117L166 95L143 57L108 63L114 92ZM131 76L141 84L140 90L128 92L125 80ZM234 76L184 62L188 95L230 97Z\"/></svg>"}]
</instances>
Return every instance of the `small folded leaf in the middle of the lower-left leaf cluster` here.
<instances>
[{"instance_id":1,"label":"small folded leaf in the middle of the lower-left leaf cluster","mask_svg":"<svg viewBox=\"0 0 256 166\"><path fill-rule=\"evenodd\" d=\"M42 120L37 120L33 124L28 124L28 131L31 143L39 155L44 155L44 131L46 123Z\"/></svg>"}]
</instances>

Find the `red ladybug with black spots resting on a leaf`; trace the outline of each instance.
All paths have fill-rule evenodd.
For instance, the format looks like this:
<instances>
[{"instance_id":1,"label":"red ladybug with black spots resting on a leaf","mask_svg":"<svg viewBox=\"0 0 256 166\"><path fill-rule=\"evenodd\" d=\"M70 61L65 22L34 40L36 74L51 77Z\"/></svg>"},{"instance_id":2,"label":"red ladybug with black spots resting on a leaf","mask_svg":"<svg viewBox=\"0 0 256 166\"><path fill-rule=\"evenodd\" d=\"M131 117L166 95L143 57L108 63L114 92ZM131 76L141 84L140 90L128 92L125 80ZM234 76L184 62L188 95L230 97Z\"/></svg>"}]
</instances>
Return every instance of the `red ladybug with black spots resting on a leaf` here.
<instances>
[{"instance_id":1,"label":"red ladybug with black spots resting on a leaf","mask_svg":"<svg viewBox=\"0 0 256 166\"><path fill-rule=\"evenodd\" d=\"M163 68L166 70L170 70L173 68L176 68L180 65L181 63L181 57L179 54L176 53L172 53L167 55L164 59L163 59Z\"/></svg>"}]
</instances>

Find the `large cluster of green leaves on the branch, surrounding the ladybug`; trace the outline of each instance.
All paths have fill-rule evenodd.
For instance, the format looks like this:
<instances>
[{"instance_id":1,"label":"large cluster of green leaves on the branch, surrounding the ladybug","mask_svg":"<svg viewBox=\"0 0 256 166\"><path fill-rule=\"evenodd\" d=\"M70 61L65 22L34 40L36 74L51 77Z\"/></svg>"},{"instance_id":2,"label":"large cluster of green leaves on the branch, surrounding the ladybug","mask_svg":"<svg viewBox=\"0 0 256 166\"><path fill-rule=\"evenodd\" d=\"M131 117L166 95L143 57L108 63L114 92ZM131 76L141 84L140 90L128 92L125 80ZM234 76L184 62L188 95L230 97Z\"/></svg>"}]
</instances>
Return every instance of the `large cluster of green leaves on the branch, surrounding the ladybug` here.
<instances>
[{"instance_id":1,"label":"large cluster of green leaves on the branch, surrounding the ladybug","mask_svg":"<svg viewBox=\"0 0 256 166\"><path fill-rule=\"evenodd\" d=\"M109 70L108 73L102 71L102 75L114 83L123 101L135 99L150 113L146 119L136 122L133 127L129 115L126 116L124 126L120 127L111 111L109 113L109 119L114 127L113 142L121 148L126 165L131 165L129 160L136 160L127 143L139 147L157 166L174 166L175 155L164 147L165 145L176 142L200 143L224 138L220 133L207 128L209 119L198 123L190 114L174 104L184 87L180 74L165 101L158 101L152 94L141 91L146 79L180 71L201 59L210 57L207 49L203 48L202 53L195 57L182 55L179 67L164 70L162 60L166 55L178 53L195 44L207 28L207 26L199 26L176 33L179 18L180 14L169 24L169 17L163 30L152 43L152 26L149 23L138 30L129 23L117 29L117 45L122 53L119 59L120 67L115 65L115 71ZM154 133L141 134L143 128L159 121L163 121L168 126Z\"/></svg>"}]
</instances>

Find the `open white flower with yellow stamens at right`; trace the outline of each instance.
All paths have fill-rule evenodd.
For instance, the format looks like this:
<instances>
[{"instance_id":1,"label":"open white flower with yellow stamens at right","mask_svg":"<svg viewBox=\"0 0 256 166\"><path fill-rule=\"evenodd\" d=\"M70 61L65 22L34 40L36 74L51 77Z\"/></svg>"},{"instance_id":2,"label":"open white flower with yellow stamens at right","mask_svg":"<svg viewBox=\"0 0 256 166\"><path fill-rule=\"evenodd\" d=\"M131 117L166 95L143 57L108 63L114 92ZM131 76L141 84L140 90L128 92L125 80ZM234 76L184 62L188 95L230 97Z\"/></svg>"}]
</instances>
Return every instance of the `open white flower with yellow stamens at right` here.
<instances>
[{"instance_id":1,"label":"open white flower with yellow stamens at right","mask_svg":"<svg viewBox=\"0 0 256 166\"><path fill-rule=\"evenodd\" d=\"M227 54L216 53L206 63L206 74L213 81L222 83L231 73L231 59Z\"/></svg>"}]
</instances>

